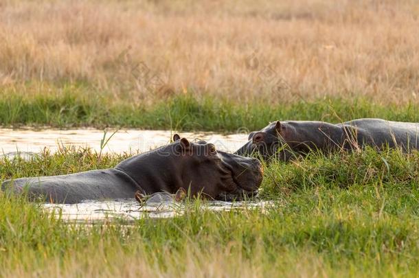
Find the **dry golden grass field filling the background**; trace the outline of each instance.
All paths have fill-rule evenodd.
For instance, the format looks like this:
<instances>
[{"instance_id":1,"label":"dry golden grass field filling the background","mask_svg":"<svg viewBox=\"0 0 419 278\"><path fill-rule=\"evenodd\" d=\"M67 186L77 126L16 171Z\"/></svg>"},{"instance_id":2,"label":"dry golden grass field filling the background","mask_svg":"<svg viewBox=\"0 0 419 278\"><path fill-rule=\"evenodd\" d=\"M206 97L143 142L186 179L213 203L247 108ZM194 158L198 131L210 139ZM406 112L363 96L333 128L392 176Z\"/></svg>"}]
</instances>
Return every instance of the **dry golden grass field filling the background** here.
<instances>
[{"instance_id":1,"label":"dry golden grass field filling the background","mask_svg":"<svg viewBox=\"0 0 419 278\"><path fill-rule=\"evenodd\" d=\"M0 84L81 81L137 99L166 84L244 101L405 103L419 93L418 17L416 0L3 0ZM154 84L144 81L151 73Z\"/></svg>"}]
</instances>

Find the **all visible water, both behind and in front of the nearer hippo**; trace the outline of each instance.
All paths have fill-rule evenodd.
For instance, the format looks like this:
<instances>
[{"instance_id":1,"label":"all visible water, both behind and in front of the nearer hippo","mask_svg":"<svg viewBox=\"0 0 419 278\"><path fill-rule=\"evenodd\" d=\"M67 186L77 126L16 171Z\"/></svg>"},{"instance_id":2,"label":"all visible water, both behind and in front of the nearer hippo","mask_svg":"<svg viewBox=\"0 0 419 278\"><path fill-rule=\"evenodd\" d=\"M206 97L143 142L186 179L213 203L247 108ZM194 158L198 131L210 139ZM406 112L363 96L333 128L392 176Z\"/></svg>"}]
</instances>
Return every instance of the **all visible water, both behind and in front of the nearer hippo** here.
<instances>
[{"instance_id":1,"label":"all visible water, both behind and in front of the nearer hippo","mask_svg":"<svg viewBox=\"0 0 419 278\"><path fill-rule=\"evenodd\" d=\"M114 130L109 130L109 137ZM29 159L32 155L41 152L43 148L55 151L59 146L89 147L100 151L100 141L103 138L103 130L77 129L77 130L12 130L0 128L0 153L8 157L14 157L16 152L21 157ZM209 141L220 150L234 152L247 141L247 134L220 135L210 132L182 132L181 136L197 141L200 139ZM172 132L167 130L119 130L110 139L102 152L114 153L137 153L152 150L166 145L172 137ZM203 207L212 211L264 208L267 202L204 202ZM141 217L170 218L181 216L185 211L183 203L173 202L170 198L149 200L145 205L139 205L135 200L109 200L87 201L77 205L45 204L47 211L55 211L68 221L95 222L105 219L124 218L135 220ZM58 215L58 214L56 214Z\"/></svg>"}]
</instances>

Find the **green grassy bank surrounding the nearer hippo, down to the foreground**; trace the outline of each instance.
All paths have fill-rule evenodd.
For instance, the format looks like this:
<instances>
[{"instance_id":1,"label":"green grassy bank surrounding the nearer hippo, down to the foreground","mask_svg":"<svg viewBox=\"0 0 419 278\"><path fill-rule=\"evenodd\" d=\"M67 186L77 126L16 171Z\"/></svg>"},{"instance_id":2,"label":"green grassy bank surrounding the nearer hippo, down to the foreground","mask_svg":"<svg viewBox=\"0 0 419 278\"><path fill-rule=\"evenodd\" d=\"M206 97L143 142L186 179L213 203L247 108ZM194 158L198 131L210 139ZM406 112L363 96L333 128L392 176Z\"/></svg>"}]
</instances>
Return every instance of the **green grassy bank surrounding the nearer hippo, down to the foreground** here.
<instances>
[{"instance_id":1,"label":"green grassy bank surrounding the nearer hippo, down to the foreground","mask_svg":"<svg viewBox=\"0 0 419 278\"><path fill-rule=\"evenodd\" d=\"M110 167L124 156L89 150L2 160L1 179ZM419 267L419 153L313 155L267 167L267 211L69 225L0 196L0 272L149 277L414 277Z\"/></svg>"}]
</instances>

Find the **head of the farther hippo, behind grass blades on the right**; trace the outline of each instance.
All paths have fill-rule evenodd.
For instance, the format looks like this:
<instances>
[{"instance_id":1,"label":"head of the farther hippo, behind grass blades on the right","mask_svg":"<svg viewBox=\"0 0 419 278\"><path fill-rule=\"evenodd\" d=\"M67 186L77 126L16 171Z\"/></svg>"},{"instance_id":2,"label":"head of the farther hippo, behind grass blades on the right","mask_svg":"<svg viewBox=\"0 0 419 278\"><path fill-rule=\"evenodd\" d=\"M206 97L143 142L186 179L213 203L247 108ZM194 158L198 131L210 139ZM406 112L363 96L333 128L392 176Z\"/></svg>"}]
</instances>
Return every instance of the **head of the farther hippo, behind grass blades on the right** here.
<instances>
[{"instance_id":1,"label":"head of the farther hippo, behind grass blades on the right","mask_svg":"<svg viewBox=\"0 0 419 278\"><path fill-rule=\"evenodd\" d=\"M249 134L249 141L238 149L235 154L250 156L256 154L264 160L278 157L282 161L291 158L292 153L286 148L284 141L284 129L280 121L273 121L259 131Z\"/></svg>"}]
</instances>

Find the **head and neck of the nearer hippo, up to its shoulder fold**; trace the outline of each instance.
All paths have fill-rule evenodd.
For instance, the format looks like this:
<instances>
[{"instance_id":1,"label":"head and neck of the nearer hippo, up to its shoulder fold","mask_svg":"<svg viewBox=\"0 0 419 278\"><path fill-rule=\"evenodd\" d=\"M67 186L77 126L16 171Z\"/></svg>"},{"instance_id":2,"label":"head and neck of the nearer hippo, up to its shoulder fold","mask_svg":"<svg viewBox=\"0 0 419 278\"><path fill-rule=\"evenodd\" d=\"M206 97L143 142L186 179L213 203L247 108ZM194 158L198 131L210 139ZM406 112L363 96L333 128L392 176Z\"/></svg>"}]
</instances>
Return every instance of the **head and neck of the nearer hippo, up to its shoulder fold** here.
<instances>
[{"instance_id":1,"label":"head and neck of the nearer hippo, up to its shoulder fold","mask_svg":"<svg viewBox=\"0 0 419 278\"><path fill-rule=\"evenodd\" d=\"M216 150L212 143L194 143L179 135L173 141L126 159L116 168L131 176L146 195L174 194L183 187L191 196L240 200L258 192L263 174L258 159L229 154Z\"/></svg>"}]
</instances>

